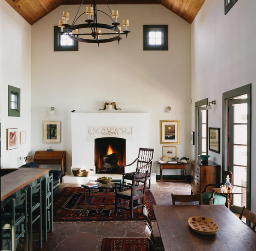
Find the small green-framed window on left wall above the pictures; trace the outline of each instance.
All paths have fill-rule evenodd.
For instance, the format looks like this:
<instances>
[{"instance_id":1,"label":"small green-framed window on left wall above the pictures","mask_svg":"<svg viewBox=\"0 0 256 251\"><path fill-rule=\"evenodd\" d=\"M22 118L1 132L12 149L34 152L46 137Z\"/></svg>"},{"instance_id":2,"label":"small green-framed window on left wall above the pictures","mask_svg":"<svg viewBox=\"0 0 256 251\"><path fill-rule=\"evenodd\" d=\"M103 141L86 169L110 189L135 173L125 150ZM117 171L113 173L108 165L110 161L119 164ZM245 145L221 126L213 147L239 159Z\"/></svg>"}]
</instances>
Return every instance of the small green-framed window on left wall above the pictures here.
<instances>
[{"instance_id":1,"label":"small green-framed window on left wall above the pictures","mask_svg":"<svg viewBox=\"0 0 256 251\"><path fill-rule=\"evenodd\" d=\"M20 88L8 86L8 116L20 117Z\"/></svg>"}]
</instances>

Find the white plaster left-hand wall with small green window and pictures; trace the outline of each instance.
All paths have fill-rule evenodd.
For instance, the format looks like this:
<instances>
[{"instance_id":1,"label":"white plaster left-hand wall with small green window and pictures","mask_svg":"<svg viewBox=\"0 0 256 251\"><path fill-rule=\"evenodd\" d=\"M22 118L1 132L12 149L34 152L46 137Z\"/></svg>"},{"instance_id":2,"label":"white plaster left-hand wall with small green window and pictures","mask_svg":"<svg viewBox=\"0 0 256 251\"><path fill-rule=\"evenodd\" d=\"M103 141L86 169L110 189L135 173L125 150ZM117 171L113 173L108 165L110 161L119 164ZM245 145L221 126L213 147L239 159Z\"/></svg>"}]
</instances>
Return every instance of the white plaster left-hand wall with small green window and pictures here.
<instances>
[{"instance_id":1,"label":"white plaster left-hand wall with small green window and pictures","mask_svg":"<svg viewBox=\"0 0 256 251\"><path fill-rule=\"evenodd\" d=\"M31 151L31 26L6 1L0 1L1 168L25 163ZM3 28L5 27L5 28ZM8 117L8 85L20 88L20 117ZM6 150L6 129L26 131L26 144Z\"/></svg>"}]
</instances>

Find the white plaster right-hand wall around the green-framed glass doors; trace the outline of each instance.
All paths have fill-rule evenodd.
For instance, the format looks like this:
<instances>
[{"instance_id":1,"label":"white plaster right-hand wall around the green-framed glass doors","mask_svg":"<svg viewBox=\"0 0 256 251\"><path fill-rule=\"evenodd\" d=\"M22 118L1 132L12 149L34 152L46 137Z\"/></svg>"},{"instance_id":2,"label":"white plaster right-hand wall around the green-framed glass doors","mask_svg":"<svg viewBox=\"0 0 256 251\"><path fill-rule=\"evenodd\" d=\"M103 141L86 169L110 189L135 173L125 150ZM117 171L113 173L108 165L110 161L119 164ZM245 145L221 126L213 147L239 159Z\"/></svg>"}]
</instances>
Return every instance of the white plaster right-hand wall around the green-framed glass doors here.
<instances>
[{"instance_id":1,"label":"white plaster right-hand wall around the green-framed glass doors","mask_svg":"<svg viewBox=\"0 0 256 251\"><path fill-rule=\"evenodd\" d=\"M216 100L209 111L209 127L222 133L222 93L252 83L252 157L256 151L256 1L240 0L224 15L223 0L206 0L192 23L192 130L195 102ZM222 139L221 139L222 140ZM221 142L222 151L222 142ZM192 156L194 148L192 148ZM222 164L221 154L209 152ZM252 159L252 164L254 159ZM256 168L251 168L251 198L256 211Z\"/></svg>"}]
</instances>

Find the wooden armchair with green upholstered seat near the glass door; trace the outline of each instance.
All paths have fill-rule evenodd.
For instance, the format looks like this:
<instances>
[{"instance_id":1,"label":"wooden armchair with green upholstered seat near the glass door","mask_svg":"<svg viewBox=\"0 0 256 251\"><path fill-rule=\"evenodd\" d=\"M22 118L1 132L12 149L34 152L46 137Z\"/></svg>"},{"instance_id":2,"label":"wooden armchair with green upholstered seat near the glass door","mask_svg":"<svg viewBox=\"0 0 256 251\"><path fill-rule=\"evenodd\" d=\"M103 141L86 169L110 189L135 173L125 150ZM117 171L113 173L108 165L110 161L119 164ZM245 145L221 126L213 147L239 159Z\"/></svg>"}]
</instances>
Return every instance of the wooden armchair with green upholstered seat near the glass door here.
<instances>
[{"instance_id":1,"label":"wooden armchair with green upholstered seat near the glass door","mask_svg":"<svg viewBox=\"0 0 256 251\"><path fill-rule=\"evenodd\" d=\"M230 177L230 183L233 185L233 173L230 171L223 172L223 183L221 184L208 184L205 186L204 191L202 192L202 202L203 204L210 205L225 205L226 197L222 194L217 194L215 191L212 191L212 188L219 188L221 185L224 185L227 180L227 175ZM229 197L229 203L232 200L232 194Z\"/></svg>"}]
</instances>

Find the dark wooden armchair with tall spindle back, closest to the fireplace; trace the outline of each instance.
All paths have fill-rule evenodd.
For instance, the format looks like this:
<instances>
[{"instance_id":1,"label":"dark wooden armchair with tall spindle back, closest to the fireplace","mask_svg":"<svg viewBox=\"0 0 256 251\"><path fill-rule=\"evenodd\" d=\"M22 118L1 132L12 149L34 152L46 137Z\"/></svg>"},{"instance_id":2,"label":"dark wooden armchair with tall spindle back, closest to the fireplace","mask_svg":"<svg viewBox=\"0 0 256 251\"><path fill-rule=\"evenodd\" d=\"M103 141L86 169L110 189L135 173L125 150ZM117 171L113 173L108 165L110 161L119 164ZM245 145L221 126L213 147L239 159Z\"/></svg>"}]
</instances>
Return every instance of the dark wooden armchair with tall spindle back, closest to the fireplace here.
<instances>
[{"instance_id":1,"label":"dark wooden armchair with tall spindle back, closest to the fireplace","mask_svg":"<svg viewBox=\"0 0 256 251\"><path fill-rule=\"evenodd\" d=\"M151 169L152 169L152 162L153 162L153 156L154 156L154 149L151 148L140 148L139 149L139 155L138 157L134 160L133 163L128 164L128 165L122 165L122 180L123 184L125 180L133 180L133 175L134 174L139 174L139 173L145 173L148 171L148 190L150 191L150 180L151 180ZM133 164L136 164L136 169L135 171L126 173L125 168L128 166L131 166Z\"/></svg>"}]
</instances>

